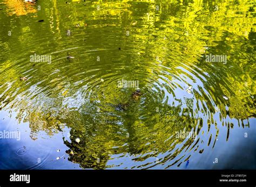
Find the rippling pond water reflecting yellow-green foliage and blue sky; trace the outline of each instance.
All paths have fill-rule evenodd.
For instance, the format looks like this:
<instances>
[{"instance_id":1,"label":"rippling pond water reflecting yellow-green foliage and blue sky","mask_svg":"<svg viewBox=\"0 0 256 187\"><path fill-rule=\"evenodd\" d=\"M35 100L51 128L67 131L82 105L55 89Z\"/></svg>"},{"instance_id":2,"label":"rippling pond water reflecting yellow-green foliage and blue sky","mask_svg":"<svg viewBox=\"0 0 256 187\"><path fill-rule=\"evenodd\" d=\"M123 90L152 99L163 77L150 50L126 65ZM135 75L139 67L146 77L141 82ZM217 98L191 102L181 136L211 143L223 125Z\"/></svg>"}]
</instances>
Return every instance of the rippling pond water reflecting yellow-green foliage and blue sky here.
<instances>
[{"instance_id":1,"label":"rippling pond water reflecting yellow-green foliage and blue sky","mask_svg":"<svg viewBox=\"0 0 256 187\"><path fill-rule=\"evenodd\" d=\"M255 3L0 1L0 169L255 169Z\"/></svg>"}]
</instances>

